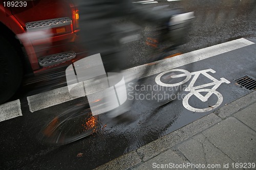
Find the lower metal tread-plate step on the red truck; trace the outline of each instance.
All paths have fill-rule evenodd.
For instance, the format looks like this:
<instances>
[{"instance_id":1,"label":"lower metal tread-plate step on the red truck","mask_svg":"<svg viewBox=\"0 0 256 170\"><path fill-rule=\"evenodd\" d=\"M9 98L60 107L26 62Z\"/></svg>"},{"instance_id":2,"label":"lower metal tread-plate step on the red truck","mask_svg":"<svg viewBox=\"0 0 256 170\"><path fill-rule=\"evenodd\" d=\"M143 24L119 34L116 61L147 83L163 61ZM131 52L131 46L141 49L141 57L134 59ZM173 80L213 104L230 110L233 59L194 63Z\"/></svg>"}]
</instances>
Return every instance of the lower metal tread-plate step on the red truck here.
<instances>
[{"instance_id":1,"label":"lower metal tread-plate step on the red truck","mask_svg":"<svg viewBox=\"0 0 256 170\"><path fill-rule=\"evenodd\" d=\"M62 63L67 60L71 60L76 57L76 53L73 51L63 52L58 54L53 54L50 56L40 57L38 58L38 62L40 66L47 67L50 65Z\"/></svg>"}]
</instances>

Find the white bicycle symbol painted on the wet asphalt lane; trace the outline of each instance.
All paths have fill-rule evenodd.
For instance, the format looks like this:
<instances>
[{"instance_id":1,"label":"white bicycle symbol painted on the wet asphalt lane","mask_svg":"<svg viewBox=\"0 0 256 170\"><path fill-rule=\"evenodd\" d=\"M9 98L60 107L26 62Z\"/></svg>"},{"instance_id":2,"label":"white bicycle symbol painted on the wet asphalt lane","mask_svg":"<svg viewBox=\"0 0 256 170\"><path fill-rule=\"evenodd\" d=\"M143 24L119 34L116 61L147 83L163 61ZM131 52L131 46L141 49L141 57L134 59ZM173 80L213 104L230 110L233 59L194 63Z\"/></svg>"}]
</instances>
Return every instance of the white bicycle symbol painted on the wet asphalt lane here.
<instances>
[{"instance_id":1,"label":"white bicycle symbol painted on the wet asphalt lane","mask_svg":"<svg viewBox=\"0 0 256 170\"><path fill-rule=\"evenodd\" d=\"M175 79L175 78L181 78L181 77L185 77L185 79L179 83L175 83L175 84L167 84L167 83L163 83L161 81L161 77L167 73L170 72L174 72L174 71L180 71L183 72L183 74L179 74L179 75L173 75L170 76L170 78ZM220 80L215 79L214 77L210 76L207 72L212 72L215 73L216 71L213 69L205 69L205 70L200 70L200 71L195 71L195 72L189 72L185 69L170 69L164 72L161 72L161 74L159 74L156 78L155 81L158 85L160 86L164 86L164 87L175 87L175 86L179 86L182 85L184 83L186 83L187 81L190 80L190 78L192 77L192 75L195 75L193 77L193 79L191 80L191 82L189 83L188 87L185 88L185 91L190 91L183 99L182 104L183 106L190 111L193 112L207 112L207 111L211 111L212 109L215 109L217 107L219 107L223 101L223 96L220 92L216 91L216 89L222 84L222 83L227 83L229 84L230 82L228 80L226 80L225 78L221 78ZM207 77L208 79L212 80L212 83L207 83L207 84L202 84L199 86L194 86L195 82L197 81L198 77L200 76L200 74L204 75L205 77ZM211 89L209 88L205 88L205 87L209 87L209 86L213 86ZM207 92L206 95L202 95L200 94L200 92ZM199 109L199 108L194 108L192 106L189 105L188 100L192 95L195 95L198 99L200 99L202 102L206 102L208 101L209 97L215 94L218 97L217 103L211 107L207 107L207 108L203 108L203 109Z\"/></svg>"}]
</instances>

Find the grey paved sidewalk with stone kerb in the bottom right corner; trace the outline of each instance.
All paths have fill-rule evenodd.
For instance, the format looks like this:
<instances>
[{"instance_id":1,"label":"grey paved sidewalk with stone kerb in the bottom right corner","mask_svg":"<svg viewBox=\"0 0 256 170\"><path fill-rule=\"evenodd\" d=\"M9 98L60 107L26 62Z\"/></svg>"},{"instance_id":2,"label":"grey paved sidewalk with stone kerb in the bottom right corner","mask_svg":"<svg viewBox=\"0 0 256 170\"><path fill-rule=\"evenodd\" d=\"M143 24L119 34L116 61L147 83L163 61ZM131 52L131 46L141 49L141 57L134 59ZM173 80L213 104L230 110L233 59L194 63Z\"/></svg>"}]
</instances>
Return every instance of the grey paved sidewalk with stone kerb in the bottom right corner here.
<instances>
[{"instance_id":1,"label":"grey paved sidewalk with stone kerb in the bottom right corner","mask_svg":"<svg viewBox=\"0 0 256 170\"><path fill-rule=\"evenodd\" d=\"M96 169L256 169L255 164L256 91L253 91Z\"/></svg>"}]
</instances>

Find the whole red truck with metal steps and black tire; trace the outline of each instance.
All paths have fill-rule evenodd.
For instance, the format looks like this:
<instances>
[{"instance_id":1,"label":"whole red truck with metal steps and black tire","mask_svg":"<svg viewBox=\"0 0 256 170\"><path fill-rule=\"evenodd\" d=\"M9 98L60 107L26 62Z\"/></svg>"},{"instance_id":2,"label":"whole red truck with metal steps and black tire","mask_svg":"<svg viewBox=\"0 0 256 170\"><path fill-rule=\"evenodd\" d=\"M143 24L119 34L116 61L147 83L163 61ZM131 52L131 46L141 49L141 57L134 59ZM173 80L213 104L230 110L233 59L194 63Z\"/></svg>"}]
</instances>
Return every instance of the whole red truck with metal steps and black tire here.
<instances>
[{"instance_id":1,"label":"whole red truck with metal steps and black tire","mask_svg":"<svg viewBox=\"0 0 256 170\"><path fill-rule=\"evenodd\" d=\"M0 104L24 74L70 65L83 57L75 44L79 14L74 0L0 0Z\"/></svg>"}]
</instances>

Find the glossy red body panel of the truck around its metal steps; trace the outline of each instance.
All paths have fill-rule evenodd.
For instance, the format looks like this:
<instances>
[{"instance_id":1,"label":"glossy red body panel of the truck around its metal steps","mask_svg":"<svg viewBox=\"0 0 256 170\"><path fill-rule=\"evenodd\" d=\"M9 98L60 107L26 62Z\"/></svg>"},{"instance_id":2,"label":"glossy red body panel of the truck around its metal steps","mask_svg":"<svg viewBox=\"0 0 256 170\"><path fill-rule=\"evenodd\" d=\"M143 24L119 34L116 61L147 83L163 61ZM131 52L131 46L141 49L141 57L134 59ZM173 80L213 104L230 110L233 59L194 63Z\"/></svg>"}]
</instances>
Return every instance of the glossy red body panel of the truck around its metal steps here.
<instances>
[{"instance_id":1,"label":"glossy red body panel of the truck around its metal steps","mask_svg":"<svg viewBox=\"0 0 256 170\"><path fill-rule=\"evenodd\" d=\"M26 33L27 22L40 21L53 18L68 17L72 19L69 26L62 27L65 30L61 33L56 33L55 28L51 28L50 40L45 38L34 38L30 40L20 39L24 45L28 56L31 68L34 74L43 70L56 67L63 64L56 64L49 67L42 67L38 63L39 57L49 56L52 54L62 53L66 51L75 51L79 54L76 47L76 39L78 30L75 13L77 8L71 0L35 0L26 1L26 7L4 7L3 0L0 0L0 21L8 27L15 35ZM50 42L50 43L49 43ZM77 55L73 61L84 57ZM67 61L70 64L72 61Z\"/></svg>"}]
</instances>

